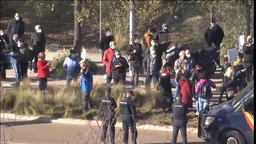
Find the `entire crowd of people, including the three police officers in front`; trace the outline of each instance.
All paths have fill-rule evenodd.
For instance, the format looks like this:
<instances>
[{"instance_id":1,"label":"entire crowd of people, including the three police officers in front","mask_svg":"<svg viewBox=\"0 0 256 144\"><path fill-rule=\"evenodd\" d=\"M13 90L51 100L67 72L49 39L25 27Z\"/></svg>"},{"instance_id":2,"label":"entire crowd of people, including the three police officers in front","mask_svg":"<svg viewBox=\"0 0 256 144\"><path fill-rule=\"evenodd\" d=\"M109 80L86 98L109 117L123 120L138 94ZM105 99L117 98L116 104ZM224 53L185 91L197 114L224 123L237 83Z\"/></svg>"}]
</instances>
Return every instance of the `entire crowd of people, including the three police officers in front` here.
<instances>
[{"instance_id":1,"label":"entire crowd of people, including the three police officers in front","mask_svg":"<svg viewBox=\"0 0 256 144\"><path fill-rule=\"evenodd\" d=\"M31 34L31 51L28 45L22 39L25 31L25 25L22 17L16 13L15 19L8 24L8 35L1 29L1 79L6 78L7 62L10 61L15 72L15 83L13 86L19 86L20 81L27 78L27 69L29 61L34 59L34 72L38 72L39 89L41 91L47 88L47 78L50 75L51 62L46 61L45 42L46 36L40 25L35 26L35 32ZM132 88L139 86L140 70L143 67L146 76L145 86L160 90L162 98L163 112L173 113L173 143L176 143L179 129L182 133L183 143L186 141L186 113L188 109L193 108L193 99L196 101L196 114L209 105L213 97L211 88L216 88L213 81L210 80L211 74L207 73L203 63L198 63L191 56L189 49L179 52L179 58L174 65L163 66L162 56L166 53L170 42L159 43L159 34L169 33L167 24L162 25L162 31L156 35L156 29L149 28L145 33L143 40L139 35L134 35L133 44L126 49L127 58L121 55L114 41L113 33L108 28L100 41L102 50L102 63L104 65L104 78L106 79L106 96L102 99L101 116L104 122L101 140L105 143L106 131L110 128L111 143L114 143L115 135L115 114L117 107L115 99L111 98L111 81L114 85L118 83L125 84L126 70L131 70ZM229 63L228 58L224 57L223 63L220 63L221 43L224 38L222 28L216 24L215 19L211 19L210 25L205 33L205 41L209 47L213 47L212 55L216 65L221 67L223 77L223 88L219 103L222 103L222 96L225 93L227 100L232 99L238 92L247 86L247 83L254 79L254 39L248 36L246 44L243 45L243 55L239 55L237 62ZM141 45L143 42L143 46ZM130 63L130 66L128 62ZM84 111L93 107L90 101L90 92L93 89L93 71L87 65L86 61L77 57L76 51L70 50L70 55L65 58L63 68L66 70L67 87L74 79L80 78L80 88L83 93L82 106ZM79 71L80 70L80 71ZM171 77L175 76L172 81ZM173 97L172 87L175 87ZM123 142L128 142L128 130L132 132L132 143L136 143L137 130L135 125L136 109L131 97L132 90L128 90L125 98L120 102L120 113L123 115L122 123L124 129ZM167 103L169 99L170 103ZM168 111L166 111L168 109Z\"/></svg>"}]
</instances>

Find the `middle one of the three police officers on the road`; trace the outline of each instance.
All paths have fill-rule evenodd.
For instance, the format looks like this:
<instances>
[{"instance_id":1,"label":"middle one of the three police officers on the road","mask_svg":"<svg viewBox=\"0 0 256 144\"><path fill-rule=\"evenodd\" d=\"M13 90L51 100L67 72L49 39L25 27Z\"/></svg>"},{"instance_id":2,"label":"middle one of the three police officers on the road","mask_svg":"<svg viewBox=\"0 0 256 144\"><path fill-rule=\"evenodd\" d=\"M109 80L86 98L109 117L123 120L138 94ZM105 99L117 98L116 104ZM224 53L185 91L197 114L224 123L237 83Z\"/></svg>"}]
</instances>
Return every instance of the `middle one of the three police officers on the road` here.
<instances>
[{"instance_id":1,"label":"middle one of the three police officers on the road","mask_svg":"<svg viewBox=\"0 0 256 144\"><path fill-rule=\"evenodd\" d=\"M134 117L136 116L136 107L131 100L133 96L133 91L128 90L126 92L126 97L120 102L120 113L122 115L122 123L123 123L123 143L128 143L128 134L129 128L131 129L131 140L133 144L136 144L136 139L138 136L138 132L136 129L136 124L134 121Z\"/></svg>"}]
</instances>

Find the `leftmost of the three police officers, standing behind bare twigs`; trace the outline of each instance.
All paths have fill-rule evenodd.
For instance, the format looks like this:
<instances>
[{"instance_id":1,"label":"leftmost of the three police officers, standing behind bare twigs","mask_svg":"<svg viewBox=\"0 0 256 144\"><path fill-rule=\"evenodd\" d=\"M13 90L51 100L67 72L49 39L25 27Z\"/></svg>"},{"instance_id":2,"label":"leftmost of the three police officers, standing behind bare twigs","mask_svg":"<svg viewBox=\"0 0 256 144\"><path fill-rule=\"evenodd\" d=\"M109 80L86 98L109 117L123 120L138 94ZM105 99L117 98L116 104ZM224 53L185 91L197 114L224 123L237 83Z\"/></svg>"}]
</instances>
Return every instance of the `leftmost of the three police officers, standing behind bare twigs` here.
<instances>
[{"instance_id":1,"label":"leftmost of the three police officers, standing behind bare twigs","mask_svg":"<svg viewBox=\"0 0 256 144\"><path fill-rule=\"evenodd\" d=\"M106 93L106 96L103 97L101 101L101 107L100 107L100 111L101 111L100 115L103 122L101 141L102 143L105 143L106 134L108 132L107 130L109 127L110 142L111 144L114 144L115 123L116 123L114 109L116 108L117 105L116 105L115 99L110 97L110 93L111 93L110 87L106 88L105 93Z\"/></svg>"}]
</instances>

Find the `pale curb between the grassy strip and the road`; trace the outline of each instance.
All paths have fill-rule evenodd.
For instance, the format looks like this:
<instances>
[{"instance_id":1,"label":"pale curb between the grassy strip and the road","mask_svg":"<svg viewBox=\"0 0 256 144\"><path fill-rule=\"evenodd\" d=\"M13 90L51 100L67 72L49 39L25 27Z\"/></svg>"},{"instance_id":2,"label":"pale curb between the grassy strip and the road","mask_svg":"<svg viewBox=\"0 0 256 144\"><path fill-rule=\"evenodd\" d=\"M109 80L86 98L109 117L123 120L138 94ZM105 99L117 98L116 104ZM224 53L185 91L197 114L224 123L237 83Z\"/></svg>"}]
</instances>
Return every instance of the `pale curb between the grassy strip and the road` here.
<instances>
[{"instance_id":1,"label":"pale curb between the grassy strip and the road","mask_svg":"<svg viewBox=\"0 0 256 144\"><path fill-rule=\"evenodd\" d=\"M33 120L38 122L46 122L46 123L60 123L60 124L71 124L71 125L88 125L97 126L96 120L81 120L81 119L71 119L71 118L51 118L46 116L28 116L28 115L15 115L12 113L0 113L1 118L5 119L16 119L16 120ZM99 125L101 125L101 121L98 121ZM117 122L115 127L122 128L122 123ZM156 130L156 131L173 131L172 126L154 126L154 125L139 125L137 129L144 130ZM187 128L187 133L197 134L197 128Z\"/></svg>"}]
</instances>

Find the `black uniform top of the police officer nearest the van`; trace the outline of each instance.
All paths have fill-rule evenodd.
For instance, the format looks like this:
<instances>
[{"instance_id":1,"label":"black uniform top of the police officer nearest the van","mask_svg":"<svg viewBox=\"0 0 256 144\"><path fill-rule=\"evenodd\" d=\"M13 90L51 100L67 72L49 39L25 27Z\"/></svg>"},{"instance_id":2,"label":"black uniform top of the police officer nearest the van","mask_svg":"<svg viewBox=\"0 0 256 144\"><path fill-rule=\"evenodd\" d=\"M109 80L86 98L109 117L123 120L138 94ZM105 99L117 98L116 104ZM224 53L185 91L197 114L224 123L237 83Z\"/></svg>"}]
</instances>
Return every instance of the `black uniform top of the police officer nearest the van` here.
<instances>
[{"instance_id":1,"label":"black uniform top of the police officer nearest the van","mask_svg":"<svg viewBox=\"0 0 256 144\"><path fill-rule=\"evenodd\" d=\"M172 105L173 119L175 120L186 120L188 112L188 106L182 102L175 102Z\"/></svg>"}]
</instances>

